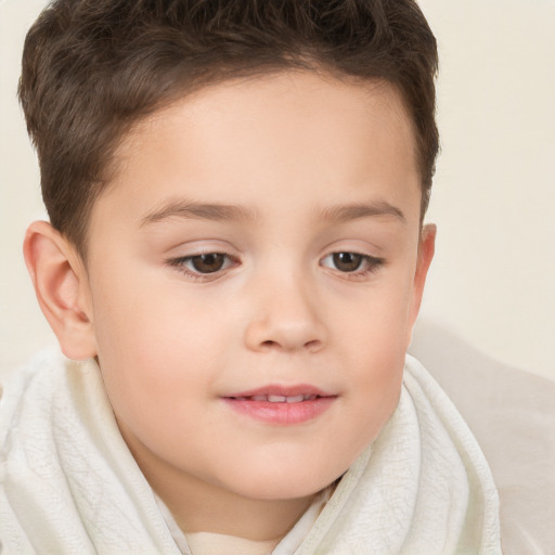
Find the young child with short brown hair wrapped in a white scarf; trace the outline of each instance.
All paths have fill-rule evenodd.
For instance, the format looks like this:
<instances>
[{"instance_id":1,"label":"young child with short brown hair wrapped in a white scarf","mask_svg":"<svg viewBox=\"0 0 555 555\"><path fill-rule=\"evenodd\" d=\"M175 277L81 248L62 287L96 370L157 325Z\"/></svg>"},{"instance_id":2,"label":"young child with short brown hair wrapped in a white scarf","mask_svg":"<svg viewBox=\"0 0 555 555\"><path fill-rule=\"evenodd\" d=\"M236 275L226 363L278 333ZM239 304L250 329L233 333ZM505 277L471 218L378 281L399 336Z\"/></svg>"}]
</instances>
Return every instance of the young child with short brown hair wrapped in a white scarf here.
<instances>
[{"instance_id":1,"label":"young child with short brown hair wrapped in a white scarf","mask_svg":"<svg viewBox=\"0 0 555 555\"><path fill-rule=\"evenodd\" d=\"M5 553L501 553L481 451L405 356L436 68L412 0L43 12L24 249L66 358L4 387Z\"/></svg>"}]
</instances>

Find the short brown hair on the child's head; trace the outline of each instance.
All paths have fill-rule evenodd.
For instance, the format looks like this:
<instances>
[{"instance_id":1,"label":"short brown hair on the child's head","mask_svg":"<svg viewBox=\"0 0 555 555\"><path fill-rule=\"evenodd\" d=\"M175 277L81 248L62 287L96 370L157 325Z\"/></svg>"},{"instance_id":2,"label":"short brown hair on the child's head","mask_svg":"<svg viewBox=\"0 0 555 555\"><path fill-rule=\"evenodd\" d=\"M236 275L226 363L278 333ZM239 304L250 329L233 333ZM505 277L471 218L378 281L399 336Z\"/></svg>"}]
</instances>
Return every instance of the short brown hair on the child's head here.
<instances>
[{"instance_id":1,"label":"short brown hair on the child's head","mask_svg":"<svg viewBox=\"0 0 555 555\"><path fill-rule=\"evenodd\" d=\"M203 86L287 68L385 79L415 129L427 207L436 40L413 0L55 0L25 41L20 100L52 225L86 254L118 141Z\"/></svg>"}]
</instances>

